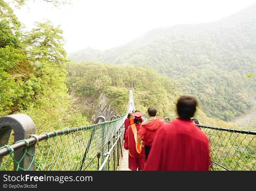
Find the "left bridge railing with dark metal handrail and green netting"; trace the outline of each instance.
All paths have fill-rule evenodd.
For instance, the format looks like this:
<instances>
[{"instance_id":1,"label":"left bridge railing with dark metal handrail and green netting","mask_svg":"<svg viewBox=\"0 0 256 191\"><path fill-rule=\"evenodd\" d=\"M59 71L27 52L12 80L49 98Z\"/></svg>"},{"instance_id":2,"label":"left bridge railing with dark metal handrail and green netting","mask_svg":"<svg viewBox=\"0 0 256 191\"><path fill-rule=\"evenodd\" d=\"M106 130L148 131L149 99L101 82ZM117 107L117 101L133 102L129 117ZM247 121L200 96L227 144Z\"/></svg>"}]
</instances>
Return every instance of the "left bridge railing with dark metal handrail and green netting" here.
<instances>
[{"instance_id":1,"label":"left bridge railing with dark metal handrail and green netting","mask_svg":"<svg viewBox=\"0 0 256 191\"><path fill-rule=\"evenodd\" d=\"M124 119L122 115L112 121L31 135L12 145L5 144L0 148L0 170L98 170L106 158L104 154L123 133ZM116 157L122 144L119 140ZM18 158L17 151L22 151ZM118 165L117 159L113 158L113 165Z\"/></svg>"}]
</instances>

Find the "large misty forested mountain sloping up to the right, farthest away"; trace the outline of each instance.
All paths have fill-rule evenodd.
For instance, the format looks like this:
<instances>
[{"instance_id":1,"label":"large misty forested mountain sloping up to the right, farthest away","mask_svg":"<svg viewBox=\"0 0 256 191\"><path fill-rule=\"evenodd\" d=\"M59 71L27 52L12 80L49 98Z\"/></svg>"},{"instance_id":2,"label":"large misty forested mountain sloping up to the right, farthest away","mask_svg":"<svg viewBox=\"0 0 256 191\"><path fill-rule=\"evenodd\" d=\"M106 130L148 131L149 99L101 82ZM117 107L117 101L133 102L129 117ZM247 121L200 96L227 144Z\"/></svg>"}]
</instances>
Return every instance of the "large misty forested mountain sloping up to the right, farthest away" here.
<instances>
[{"instance_id":1,"label":"large misty forested mountain sloping up to the right, farthest away","mask_svg":"<svg viewBox=\"0 0 256 191\"><path fill-rule=\"evenodd\" d=\"M148 65L179 81L209 117L229 120L250 108L255 84L246 75L256 68L256 4L205 24L156 28L141 38L106 51L71 53L74 61Z\"/></svg>"}]
</instances>

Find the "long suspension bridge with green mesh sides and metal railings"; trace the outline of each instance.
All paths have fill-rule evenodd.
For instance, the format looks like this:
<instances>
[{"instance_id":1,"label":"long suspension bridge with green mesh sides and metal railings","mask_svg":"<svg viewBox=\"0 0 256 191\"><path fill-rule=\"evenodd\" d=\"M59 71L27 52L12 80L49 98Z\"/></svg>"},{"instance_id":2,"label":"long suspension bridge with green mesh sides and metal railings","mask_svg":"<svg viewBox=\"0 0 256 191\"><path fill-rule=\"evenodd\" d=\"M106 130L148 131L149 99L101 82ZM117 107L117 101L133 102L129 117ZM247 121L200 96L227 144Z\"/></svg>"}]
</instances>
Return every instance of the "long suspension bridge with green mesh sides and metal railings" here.
<instances>
[{"instance_id":1,"label":"long suspension bridge with green mesh sides and metal railings","mask_svg":"<svg viewBox=\"0 0 256 191\"><path fill-rule=\"evenodd\" d=\"M129 90L127 113L106 121L35 134L35 124L24 114L0 118L1 170L129 170L128 151L123 149L124 121L135 110ZM148 117L142 116L144 120ZM166 122L170 122L165 117ZM205 126L193 119L209 137L210 170L256 170L256 131ZM11 132L14 143L9 145Z\"/></svg>"}]
</instances>

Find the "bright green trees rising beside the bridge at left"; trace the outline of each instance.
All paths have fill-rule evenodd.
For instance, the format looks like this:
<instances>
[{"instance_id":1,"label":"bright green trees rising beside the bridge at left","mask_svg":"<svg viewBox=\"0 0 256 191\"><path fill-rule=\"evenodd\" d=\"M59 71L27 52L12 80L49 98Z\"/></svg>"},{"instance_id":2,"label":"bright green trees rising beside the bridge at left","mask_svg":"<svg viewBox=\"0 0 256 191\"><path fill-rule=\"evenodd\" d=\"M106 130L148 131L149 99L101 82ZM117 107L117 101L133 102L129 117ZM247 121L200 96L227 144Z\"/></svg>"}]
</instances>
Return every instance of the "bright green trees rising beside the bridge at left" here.
<instances>
[{"instance_id":1,"label":"bright green trees rising beside the bridge at left","mask_svg":"<svg viewBox=\"0 0 256 191\"><path fill-rule=\"evenodd\" d=\"M25 113L37 133L88 124L67 92L63 31L51 22L21 26L0 0L0 116Z\"/></svg>"}]
</instances>

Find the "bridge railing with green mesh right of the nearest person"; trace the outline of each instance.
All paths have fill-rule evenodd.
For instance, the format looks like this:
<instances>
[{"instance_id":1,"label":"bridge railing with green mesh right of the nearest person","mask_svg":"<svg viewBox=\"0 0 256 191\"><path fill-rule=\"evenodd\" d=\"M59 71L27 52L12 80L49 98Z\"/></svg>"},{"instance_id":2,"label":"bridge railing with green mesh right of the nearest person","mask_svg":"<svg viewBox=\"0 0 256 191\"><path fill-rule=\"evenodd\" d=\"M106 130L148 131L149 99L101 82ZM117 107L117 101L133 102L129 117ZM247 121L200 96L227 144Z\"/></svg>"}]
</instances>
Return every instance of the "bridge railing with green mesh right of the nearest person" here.
<instances>
[{"instance_id":1,"label":"bridge railing with green mesh right of the nearest person","mask_svg":"<svg viewBox=\"0 0 256 191\"><path fill-rule=\"evenodd\" d=\"M211 170L256 170L256 131L198 127L209 138Z\"/></svg>"}]
</instances>

